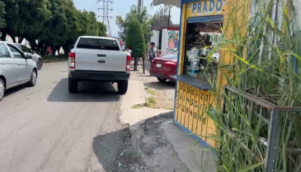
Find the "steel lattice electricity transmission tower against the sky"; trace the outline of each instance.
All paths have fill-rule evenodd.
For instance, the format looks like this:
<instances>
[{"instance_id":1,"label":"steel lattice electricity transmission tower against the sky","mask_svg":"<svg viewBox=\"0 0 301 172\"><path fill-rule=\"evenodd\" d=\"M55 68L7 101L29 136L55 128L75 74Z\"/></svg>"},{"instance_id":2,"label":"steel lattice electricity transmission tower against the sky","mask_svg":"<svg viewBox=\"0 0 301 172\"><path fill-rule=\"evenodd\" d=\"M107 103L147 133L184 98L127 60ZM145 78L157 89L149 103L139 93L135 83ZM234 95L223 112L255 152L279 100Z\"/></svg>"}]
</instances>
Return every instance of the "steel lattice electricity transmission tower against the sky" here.
<instances>
[{"instance_id":1,"label":"steel lattice electricity transmission tower against the sky","mask_svg":"<svg viewBox=\"0 0 301 172\"><path fill-rule=\"evenodd\" d=\"M109 11L113 11L113 9L109 8L109 5L113 4L113 0L97 0L97 3L102 5L101 8L98 8L97 10L103 11L103 14L99 15L98 17L102 17L102 23L107 24L107 30L109 32L109 36L111 37L112 34L109 18L113 17L109 15Z\"/></svg>"}]
</instances>

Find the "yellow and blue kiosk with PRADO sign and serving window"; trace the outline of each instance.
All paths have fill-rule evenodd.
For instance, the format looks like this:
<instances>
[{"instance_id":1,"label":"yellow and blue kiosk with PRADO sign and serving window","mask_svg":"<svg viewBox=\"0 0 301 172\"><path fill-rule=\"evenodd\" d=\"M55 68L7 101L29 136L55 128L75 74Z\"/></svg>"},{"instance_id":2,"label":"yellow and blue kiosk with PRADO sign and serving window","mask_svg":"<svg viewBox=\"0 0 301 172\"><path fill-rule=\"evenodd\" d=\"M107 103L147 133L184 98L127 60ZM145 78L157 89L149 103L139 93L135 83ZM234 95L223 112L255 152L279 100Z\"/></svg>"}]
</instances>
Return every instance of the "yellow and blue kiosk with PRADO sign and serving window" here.
<instances>
[{"instance_id":1,"label":"yellow and blue kiosk with PRADO sign and serving window","mask_svg":"<svg viewBox=\"0 0 301 172\"><path fill-rule=\"evenodd\" d=\"M216 135L216 127L206 116L206 110L210 105L215 106L211 92L215 86L210 83L210 78L220 72L218 61L229 59L222 56L222 52L212 52L222 36L228 2L181 1L180 51L177 76L174 76L177 80L174 123L193 137L201 138L200 142L205 147L215 147L216 144L210 138ZM206 58L209 54L212 56L210 60Z\"/></svg>"}]
</instances>

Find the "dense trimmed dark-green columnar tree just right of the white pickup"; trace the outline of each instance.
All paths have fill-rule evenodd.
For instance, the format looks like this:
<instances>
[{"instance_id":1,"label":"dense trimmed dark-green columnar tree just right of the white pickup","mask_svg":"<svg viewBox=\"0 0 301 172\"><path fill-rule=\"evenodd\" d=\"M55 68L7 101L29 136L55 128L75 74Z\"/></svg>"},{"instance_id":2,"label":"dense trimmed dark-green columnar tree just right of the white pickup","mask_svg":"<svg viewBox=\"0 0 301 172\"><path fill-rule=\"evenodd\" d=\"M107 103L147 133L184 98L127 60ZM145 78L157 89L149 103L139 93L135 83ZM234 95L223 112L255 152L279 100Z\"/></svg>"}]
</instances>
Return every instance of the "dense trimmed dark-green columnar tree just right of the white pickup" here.
<instances>
[{"instance_id":1,"label":"dense trimmed dark-green columnar tree just right of the white pickup","mask_svg":"<svg viewBox=\"0 0 301 172\"><path fill-rule=\"evenodd\" d=\"M144 57L145 39L141 24L138 20L131 20L126 32L126 45L130 46L135 57Z\"/></svg>"}]
</instances>

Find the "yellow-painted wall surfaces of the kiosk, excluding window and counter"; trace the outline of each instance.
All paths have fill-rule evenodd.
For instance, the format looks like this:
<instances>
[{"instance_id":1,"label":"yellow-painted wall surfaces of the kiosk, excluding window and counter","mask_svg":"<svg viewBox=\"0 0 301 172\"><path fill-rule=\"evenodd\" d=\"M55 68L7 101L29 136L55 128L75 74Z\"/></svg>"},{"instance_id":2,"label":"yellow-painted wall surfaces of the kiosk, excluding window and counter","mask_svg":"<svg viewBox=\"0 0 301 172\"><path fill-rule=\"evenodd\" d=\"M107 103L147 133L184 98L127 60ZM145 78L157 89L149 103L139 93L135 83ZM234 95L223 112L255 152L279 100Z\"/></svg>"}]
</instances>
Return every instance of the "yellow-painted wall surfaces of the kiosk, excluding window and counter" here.
<instances>
[{"instance_id":1,"label":"yellow-painted wall surfaces of the kiosk, excluding window and counter","mask_svg":"<svg viewBox=\"0 0 301 172\"><path fill-rule=\"evenodd\" d=\"M179 48L179 68L178 75L183 73L184 68L184 56L185 56L185 36L186 36L186 25L187 19L189 17L200 17L200 16L209 16L209 15L223 15L224 17L224 27L225 23L228 23L228 18L231 8L233 5L236 7L247 7L249 0L206 0L195 3L183 4L182 11L182 25L181 25L181 44ZM237 12L248 13L244 8L241 8ZM242 19L241 14L235 14L238 20ZM232 17L233 18L233 17ZM241 31L246 28L243 26L240 27ZM225 31L226 38L230 38L233 35L233 29L231 26L227 26ZM225 49L227 49L226 47ZM230 64L232 63L231 53L228 53L226 50L220 51L220 63ZM227 84L225 76L228 75L227 71L219 70L218 73L218 83L217 86L224 86ZM176 95L176 104L175 104L175 121L179 122L186 128L188 128L192 133L201 137L209 145L215 147L216 142L210 138L212 135L216 135L216 127L212 120L210 120L206 115L206 110L209 105L212 105L213 108L216 108L216 105L221 103L216 103L215 96L211 91L200 90L195 87L192 87L181 81L177 81L177 95ZM221 89L222 90L222 89ZM219 100L221 101L221 100Z\"/></svg>"}]
</instances>

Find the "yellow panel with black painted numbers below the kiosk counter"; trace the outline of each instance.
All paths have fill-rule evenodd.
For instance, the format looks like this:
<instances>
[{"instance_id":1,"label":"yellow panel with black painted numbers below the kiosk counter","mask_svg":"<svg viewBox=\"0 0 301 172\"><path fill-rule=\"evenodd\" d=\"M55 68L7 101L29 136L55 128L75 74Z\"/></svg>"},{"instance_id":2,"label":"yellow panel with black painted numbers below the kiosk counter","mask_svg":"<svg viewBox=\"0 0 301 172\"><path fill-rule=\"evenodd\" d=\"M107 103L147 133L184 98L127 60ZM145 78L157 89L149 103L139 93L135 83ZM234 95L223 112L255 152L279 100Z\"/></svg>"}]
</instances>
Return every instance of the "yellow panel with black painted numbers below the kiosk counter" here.
<instances>
[{"instance_id":1,"label":"yellow panel with black painted numbers below the kiosk counter","mask_svg":"<svg viewBox=\"0 0 301 172\"><path fill-rule=\"evenodd\" d=\"M216 134L216 127L206 115L209 105L214 107L211 92L178 81L176 94L175 121L201 137L209 145L215 146L215 141L208 137Z\"/></svg>"}]
</instances>

